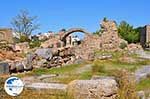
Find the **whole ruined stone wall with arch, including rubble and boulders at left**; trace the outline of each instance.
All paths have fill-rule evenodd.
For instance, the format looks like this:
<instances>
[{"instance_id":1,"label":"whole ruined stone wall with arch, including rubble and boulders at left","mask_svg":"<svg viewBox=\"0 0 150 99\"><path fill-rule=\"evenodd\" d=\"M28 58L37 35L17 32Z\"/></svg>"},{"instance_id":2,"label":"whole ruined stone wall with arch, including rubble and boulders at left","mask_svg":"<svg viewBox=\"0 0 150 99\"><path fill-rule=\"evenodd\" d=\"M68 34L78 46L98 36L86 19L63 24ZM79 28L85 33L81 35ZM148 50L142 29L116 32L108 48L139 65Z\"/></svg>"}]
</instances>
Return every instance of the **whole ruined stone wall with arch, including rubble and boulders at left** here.
<instances>
[{"instance_id":1,"label":"whole ruined stone wall with arch, including rubble and boulders at left","mask_svg":"<svg viewBox=\"0 0 150 99\"><path fill-rule=\"evenodd\" d=\"M32 52L29 50L31 53L25 58L8 60L10 71L28 71L33 68L51 68L65 64L80 63L85 60L94 60L96 50L120 50L121 42L126 41L119 37L116 23L105 20L102 21L101 28L102 33L100 33L100 36L92 35L81 28L61 31L42 43L41 48L36 48ZM70 34L74 32L85 34L85 38L79 45L73 45L70 39Z\"/></svg>"}]
</instances>

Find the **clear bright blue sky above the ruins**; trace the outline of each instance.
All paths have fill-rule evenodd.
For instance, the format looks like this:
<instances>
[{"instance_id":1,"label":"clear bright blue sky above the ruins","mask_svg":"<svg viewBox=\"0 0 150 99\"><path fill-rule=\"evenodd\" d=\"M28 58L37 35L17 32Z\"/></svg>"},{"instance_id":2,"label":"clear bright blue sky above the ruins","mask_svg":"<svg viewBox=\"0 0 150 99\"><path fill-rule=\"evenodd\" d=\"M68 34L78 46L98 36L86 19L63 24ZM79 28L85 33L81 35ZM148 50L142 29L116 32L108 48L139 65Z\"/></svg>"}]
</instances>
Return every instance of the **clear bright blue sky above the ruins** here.
<instances>
[{"instance_id":1,"label":"clear bright blue sky above the ruins","mask_svg":"<svg viewBox=\"0 0 150 99\"><path fill-rule=\"evenodd\" d=\"M11 27L12 17L21 9L38 16L38 32L72 27L94 32L103 17L137 27L150 24L149 5L150 0L1 0L0 27Z\"/></svg>"}]
</instances>

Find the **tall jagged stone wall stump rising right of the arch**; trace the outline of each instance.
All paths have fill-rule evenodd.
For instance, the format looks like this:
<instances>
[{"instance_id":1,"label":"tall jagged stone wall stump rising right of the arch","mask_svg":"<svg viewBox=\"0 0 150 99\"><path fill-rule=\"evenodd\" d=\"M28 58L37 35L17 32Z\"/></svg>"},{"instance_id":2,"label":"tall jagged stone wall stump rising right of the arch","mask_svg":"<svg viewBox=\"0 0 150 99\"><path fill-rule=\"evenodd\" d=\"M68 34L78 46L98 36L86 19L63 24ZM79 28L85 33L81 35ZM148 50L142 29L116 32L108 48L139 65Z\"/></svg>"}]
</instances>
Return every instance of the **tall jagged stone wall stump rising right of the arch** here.
<instances>
[{"instance_id":1,"label":"tall jagged stone wall stump rising right of the arch","mask_svg":"<svg viewBox=\"0 0 150 99\"><path fill-rule=\"evenodd\" d=\"M117 26L114 21L102 21L101 23L102 35L101 35L101 47L103 50L111 50L118 48L119 36Z\"/></svg>"}]
</instances>

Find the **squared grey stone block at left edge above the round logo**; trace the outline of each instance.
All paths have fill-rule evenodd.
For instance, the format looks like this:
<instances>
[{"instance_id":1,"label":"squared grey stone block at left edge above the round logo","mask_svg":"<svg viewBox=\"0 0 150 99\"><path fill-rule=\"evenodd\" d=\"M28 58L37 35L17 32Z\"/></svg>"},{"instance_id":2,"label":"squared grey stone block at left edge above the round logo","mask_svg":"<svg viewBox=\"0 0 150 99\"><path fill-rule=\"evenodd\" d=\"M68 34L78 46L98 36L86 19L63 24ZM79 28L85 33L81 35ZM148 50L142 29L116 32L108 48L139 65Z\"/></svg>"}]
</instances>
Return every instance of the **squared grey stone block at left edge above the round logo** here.
<instances>
[{"instance_id":1,"label":"squared grey stone block at left edge above the round logo","mask_svg":"<svg viewBox=\"0 0 150 99\"><path fill-rule=\"evenodd\" d=\"M9 64L0 62L0 74L9 74Z\"/></svg>"}]
</instances>

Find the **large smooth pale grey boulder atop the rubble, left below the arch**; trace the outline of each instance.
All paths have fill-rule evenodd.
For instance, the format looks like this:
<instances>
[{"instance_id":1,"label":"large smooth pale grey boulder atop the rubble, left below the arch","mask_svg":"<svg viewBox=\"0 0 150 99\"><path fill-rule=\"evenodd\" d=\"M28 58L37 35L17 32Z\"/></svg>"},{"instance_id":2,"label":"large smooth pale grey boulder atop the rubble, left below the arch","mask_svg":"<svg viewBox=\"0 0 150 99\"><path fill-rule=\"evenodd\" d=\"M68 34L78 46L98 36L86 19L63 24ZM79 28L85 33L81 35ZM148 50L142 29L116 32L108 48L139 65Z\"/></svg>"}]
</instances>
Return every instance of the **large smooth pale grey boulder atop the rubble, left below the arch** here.
<instances>
[{"instance_id":1,"label":"large smooth pale grey boulder atop the rubble, left below the arch","mask_svg":"<svg viewBox=\"0 0 150 99\"><path fill-rule=\"evenodd\" d=\"M35 54L48 60L50 60L53 56L50 48L39 48L35 51Z\"/></svg>"}]
</instances>

